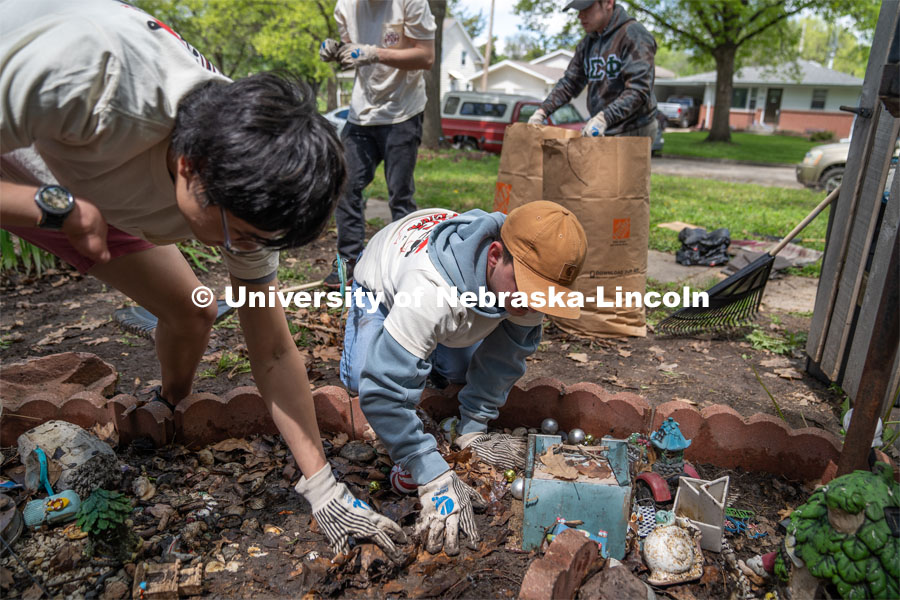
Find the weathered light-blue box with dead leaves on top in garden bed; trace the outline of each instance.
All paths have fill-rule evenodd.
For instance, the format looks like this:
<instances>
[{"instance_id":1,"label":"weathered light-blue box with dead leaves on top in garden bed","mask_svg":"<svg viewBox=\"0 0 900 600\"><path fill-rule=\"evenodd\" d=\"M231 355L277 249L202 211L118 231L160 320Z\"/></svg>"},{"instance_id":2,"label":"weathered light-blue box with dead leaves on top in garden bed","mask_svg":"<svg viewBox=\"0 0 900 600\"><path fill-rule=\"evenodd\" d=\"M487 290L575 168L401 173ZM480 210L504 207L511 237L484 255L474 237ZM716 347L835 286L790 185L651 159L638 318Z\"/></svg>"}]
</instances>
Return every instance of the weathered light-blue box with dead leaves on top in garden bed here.
<instances>
[{"instance_id":1,"label":"weathered light-blue box with dead leaves on top in garden bed","mask_svg":"<svg viewBox=\"0 0 900 600\"><path fill-rule=\"evenodd\" d=\"M609 556L624 558L625 535L631 516L627 444L624 440L603 438L600 445L609 449L586 456L577 450L562 448L561 440L558 435L528 436L522 549L540 547L546 533L556 525L557 518L563 517L569 521L583 521L577 529L592 535L603 537L605 532ZM582 467L577 478L559 479L539 460L553 446L566 463Z\"/></svg>"}]
</instances>

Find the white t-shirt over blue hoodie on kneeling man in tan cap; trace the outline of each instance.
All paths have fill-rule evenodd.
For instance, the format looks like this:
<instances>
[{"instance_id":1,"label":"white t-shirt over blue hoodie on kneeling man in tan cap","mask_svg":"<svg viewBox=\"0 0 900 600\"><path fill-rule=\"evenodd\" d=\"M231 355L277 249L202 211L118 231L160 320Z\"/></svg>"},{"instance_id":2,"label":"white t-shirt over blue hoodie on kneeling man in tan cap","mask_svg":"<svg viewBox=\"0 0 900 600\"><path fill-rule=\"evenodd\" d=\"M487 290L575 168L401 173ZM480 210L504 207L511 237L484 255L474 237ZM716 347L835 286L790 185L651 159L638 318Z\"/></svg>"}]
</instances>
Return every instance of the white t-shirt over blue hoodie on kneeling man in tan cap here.
<instances>
[{"instance_id":1,"label":"white t-shirt over blue hoodie on kneeling man in tan cap","mask_svg":"<svg viewBox=\"0 0 900 600\"><path fill-rule=\"evenodd\" d=\"M503 319L490 318L459 303L452 307L440 299L451 286L438 273L428 256L428 237L439 223L457 213L445 209L425 209L411 213L379 231L366 246L353 270L356 282L371 292L382 292L390 311L384 328L410 354L421 359L431 356L438 344L466 348L486 338ZM443 295L441 290L445 290ZM397 293L409 296L409 306L401 306ZM462 290L460 290L462 291ZM543 320L541 313L524 317L508 316L517 325L533 327Z\"/></svg>"}]
</instances>

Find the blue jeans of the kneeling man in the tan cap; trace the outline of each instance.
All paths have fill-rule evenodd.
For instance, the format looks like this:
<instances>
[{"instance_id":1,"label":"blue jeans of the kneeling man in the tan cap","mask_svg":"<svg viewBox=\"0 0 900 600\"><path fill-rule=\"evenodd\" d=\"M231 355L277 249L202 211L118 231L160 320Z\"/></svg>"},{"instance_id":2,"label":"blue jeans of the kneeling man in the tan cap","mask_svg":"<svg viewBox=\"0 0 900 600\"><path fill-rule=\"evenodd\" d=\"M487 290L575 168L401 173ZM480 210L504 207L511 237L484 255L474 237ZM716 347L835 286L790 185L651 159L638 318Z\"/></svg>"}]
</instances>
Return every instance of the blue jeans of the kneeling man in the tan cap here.
<instances>
[{"instance_id":1,"label":"blue jeans of the kneeling man in the tan cap","mask_svg":"<svg viewBox=\"0 0 900 600\"><path fill-rule=\"evenodd\" d=\"M354 282L351 293L355 294L358 289L363 292L368 291ZM344 329L344 352L341 354L340 365L341 381L353 394L359 392L359 377L365 366L372 338L384 327L384 319L388 314L388 309L383 304L378 307L378 310L370 313L372 305L365 296L360 304L363 306L356 306L354 302L347 314L347 326ZM480 344L479 341L467 348L448 348L438 344L428 362L431 363L433 371L451 383L465 383L472 355L475 354L475 350Z\"/></svg>"}]
</instances>

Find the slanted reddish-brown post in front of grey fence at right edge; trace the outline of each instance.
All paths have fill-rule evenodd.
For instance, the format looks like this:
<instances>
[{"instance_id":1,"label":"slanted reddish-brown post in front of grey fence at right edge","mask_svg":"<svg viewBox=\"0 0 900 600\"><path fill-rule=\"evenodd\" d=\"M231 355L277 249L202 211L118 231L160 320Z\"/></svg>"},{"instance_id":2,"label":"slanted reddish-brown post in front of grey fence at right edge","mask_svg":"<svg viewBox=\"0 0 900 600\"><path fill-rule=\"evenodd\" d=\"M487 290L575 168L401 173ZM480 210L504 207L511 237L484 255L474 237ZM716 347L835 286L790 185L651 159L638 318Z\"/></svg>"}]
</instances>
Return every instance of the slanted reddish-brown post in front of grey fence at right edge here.
<instances>
[{"instance_id":1,"label":"slanted reddish-brown post in front of grey fence at right edge","mask_svg":"<svg viewBox=\"0 0 900 600\"><path fill-rule=\"evenodd\" d=\"M867 468L866 459L881 416L882 399L891 380L894 355L889 349L895 353L900 343L900 311L897 310L900 306L900 245L897 242L895 235L888 278L878 306L853 417L838 459L838 476Z\"/></svg>"}]
</instances>

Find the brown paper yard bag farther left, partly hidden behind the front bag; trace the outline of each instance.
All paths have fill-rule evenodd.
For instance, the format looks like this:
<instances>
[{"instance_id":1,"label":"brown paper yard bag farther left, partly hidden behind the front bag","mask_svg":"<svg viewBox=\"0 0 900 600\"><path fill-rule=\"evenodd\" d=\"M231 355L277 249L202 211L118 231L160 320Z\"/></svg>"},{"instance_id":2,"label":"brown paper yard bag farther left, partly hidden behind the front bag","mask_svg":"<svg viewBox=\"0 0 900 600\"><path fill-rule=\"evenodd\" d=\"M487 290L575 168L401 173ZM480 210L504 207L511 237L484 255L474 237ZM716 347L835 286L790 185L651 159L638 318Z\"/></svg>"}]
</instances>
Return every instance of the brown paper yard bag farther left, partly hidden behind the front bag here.
<instances>
[{"instance_id":1,"label":"brown paper yard bag farther left, partly hidden behind the front bag","mask_svg":"<svg viewBox=\"0 0 900 600\"><path fill-rule=\"evenodd\" d=\"M513 123L506 128L497 171L494 210L509 214L526 202L543 200L541 142L574 138L579 132L564 127Z\"/></svg>"}]
</instances>

